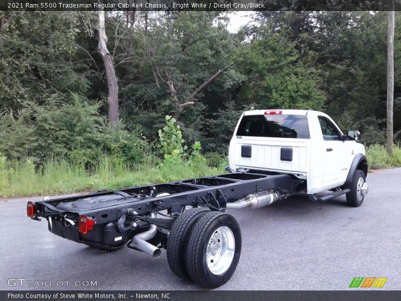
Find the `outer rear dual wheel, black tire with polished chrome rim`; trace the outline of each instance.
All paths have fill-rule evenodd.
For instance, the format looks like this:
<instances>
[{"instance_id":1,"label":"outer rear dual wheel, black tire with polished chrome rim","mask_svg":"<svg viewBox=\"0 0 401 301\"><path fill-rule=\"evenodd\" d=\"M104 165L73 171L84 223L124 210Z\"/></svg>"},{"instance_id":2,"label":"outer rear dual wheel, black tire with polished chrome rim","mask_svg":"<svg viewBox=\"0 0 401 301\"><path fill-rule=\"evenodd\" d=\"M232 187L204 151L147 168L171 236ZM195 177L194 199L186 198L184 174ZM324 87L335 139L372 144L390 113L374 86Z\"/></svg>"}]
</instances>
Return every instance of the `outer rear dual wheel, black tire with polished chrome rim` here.
<instances>
[{"instance_id":1,"label":"outer rear dual wheel, black tire with polished chrome rim","mask_svg":"<svg viewBox=\"0 0 401 301\"><path fill-rule=\"evenodd\" d=\"M229 214L213 211L202 216L193 228L185 265L192 281L216 288L230 280L240 255L241 230L237 221Z\"/></svg>"}]
</instances>

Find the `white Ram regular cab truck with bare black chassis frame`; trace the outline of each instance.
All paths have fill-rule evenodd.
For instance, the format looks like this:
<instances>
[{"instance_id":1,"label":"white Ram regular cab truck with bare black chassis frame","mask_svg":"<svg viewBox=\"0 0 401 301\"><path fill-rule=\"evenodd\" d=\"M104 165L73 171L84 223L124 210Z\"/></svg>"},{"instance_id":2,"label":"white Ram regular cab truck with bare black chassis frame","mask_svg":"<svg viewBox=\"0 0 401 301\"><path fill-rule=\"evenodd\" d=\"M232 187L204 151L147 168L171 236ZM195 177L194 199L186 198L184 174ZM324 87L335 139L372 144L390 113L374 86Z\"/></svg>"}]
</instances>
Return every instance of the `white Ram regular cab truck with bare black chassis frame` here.
<instances>
[{"instance_id":1,"label":"white Ram regular cab truck with bare black chassis frame","mask_svg":"<svg viewBox=\"0 0 401 301\"><path fill-rule=\"evenodd\" d=\"M312 201L368 192L367 160L356 130L343 134L311 110L244 112L229 149L229 173L28 202L27 215L48 230L94 248L123 246L153 258L166 250L175 275L207 288L225 284L241 254L240 226L229 209L257 209L294 193Z\"/></svg>"}]
</instances>

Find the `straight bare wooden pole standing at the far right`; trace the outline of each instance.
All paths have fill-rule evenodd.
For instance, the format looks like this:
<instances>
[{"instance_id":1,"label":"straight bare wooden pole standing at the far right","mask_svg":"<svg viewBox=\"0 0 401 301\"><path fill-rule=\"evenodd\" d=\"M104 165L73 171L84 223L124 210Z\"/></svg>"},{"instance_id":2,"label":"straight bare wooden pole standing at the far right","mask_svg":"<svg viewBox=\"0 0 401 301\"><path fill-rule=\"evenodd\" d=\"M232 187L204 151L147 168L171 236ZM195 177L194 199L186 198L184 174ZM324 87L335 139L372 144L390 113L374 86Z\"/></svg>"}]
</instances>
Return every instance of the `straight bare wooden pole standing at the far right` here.
<instances>
[{"instance_id":1,"label":"straight bare wooden pole standing at the far right","mask_svg":"<svg viewBox=\"0 0 401 301\"><path fill-rule=\"evenodd\" d=\"M391 8L392 4L392 8ZM387 28L387 128L386 128L386 149L387 154L392 154L392 111L394 98L394 6L393 1L389 2L388 28Z\"/></svg>"}]
</instances>

